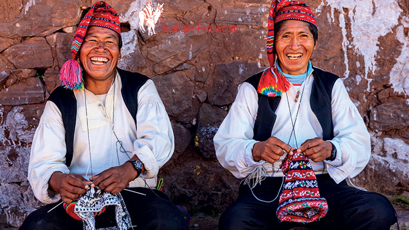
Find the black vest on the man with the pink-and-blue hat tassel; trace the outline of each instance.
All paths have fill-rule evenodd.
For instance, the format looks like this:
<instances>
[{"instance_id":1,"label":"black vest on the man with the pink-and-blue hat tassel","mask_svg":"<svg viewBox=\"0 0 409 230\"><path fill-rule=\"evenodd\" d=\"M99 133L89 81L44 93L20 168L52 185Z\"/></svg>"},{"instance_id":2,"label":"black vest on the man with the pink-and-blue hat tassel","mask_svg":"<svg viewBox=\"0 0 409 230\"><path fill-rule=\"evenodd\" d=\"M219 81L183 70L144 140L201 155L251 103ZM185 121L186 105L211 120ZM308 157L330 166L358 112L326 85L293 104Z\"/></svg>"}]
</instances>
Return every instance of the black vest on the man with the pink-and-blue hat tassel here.
<instances>
[{"instance_id":1,"label":"black vest on the man with the pink-and-blue hat tassel","mask_svg":"<svg viewBox=\"0 0 409 230\"><path fill-rule=\"evenodd\" d=\"M137 72L129 72L117 68L121 76L122 89L121 94L128 111L136 125L136 112L138 111L138 91L141 86L149 79L147 76ZM67 152L65 154L65 165L71 165L74 152L74 133L77 119L77 99L72 90L64 89L63 87L56 88L47 99L54 102L61 111L62 123L65 129L65 145Z\"/></svg>"}]
</instances>

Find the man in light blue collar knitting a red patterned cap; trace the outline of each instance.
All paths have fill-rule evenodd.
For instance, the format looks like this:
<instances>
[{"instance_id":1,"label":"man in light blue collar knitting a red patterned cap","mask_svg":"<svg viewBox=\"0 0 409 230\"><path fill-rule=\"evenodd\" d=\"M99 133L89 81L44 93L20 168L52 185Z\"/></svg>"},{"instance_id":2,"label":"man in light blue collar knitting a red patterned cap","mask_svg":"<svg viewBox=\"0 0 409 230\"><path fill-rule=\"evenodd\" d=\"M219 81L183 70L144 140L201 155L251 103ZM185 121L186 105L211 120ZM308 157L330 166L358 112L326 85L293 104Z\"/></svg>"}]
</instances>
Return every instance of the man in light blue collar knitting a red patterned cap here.
<instances>
[{"instance_id":1,"label":"man in light blue collar knitting a red patterned cap","mask_svg":"<svg viewBox=\"0 0 409 230\"><path fill-rule=\"evenodd\" d=\"M370 136L342 79L310 61L310 7L273 1L268 29L270 67L239 86L214 136L220 164L245 178L219 229L389 229L388 199L346 182L368 163Z\"/></svg>"}]
</instances>

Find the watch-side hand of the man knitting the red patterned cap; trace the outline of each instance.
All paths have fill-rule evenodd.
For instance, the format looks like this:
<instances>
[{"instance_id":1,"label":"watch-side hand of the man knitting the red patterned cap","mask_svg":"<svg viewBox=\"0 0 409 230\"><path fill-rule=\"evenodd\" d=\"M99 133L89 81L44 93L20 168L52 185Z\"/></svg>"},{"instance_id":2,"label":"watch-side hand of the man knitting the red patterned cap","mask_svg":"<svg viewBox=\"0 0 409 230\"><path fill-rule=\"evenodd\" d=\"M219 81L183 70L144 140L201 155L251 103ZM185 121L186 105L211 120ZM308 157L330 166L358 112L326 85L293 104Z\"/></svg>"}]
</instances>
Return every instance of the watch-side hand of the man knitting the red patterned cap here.
<instances>
[{"instance_id":1,"label":"watch-side hand of the man knitting the red patterned cap","mask_svg":"<svg viewBox=\"0 0 409 230\"><path fill-rule=\"evenodd\" d=\"M331 157L332 144L319 137L306 140L297 152L303 152L313 162L321 162Z\"/></svg>"}]
</instances>

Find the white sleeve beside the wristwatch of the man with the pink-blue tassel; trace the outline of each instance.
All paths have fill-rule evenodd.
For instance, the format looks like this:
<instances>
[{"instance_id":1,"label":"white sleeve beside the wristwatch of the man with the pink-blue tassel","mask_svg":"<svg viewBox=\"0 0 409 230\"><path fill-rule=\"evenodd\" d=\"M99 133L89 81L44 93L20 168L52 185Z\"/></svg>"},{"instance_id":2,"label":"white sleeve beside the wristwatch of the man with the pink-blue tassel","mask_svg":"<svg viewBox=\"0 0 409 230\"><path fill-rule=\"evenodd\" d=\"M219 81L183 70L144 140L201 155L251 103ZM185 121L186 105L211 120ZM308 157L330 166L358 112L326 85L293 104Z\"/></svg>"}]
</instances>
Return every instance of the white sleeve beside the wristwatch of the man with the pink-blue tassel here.
<instances>
[{"instance_id":1,"label":"white sleeve beside the wristwatch of the man with the pink-blue tassel","mask_svg":"<svg viewBox=\"0 0 409 230\"><path fill-rule=\"evenodd\" d=\"M136 121L133 154L145 167L141 176L154 178L172 157L175 145L168 114L152 80L139 89Z\"/></svg>"}]
</instances>

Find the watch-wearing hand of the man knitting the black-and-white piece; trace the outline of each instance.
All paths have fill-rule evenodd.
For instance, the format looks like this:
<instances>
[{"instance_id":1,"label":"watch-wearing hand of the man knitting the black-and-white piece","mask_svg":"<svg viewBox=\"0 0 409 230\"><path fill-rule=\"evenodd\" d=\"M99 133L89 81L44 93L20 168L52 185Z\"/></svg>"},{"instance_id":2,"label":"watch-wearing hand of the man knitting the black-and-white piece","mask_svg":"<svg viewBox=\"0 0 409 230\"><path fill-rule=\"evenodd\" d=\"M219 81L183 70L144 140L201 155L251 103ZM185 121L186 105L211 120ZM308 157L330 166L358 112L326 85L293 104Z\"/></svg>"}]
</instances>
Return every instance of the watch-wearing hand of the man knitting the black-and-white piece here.
<instances>
[{"instance_id":1,"label":"watch-wearing hand of the man knitting the black-and-white piece","mask_svg":"<svg viewBox=\"0 0 409 230\"><path fill-rule=\"evenodd\" d=\"M136 156L131 159L137 160ZM142 172L144 167L142 168ZM123 165L111 167L98 175L90 177L91 187L98 186L107 193L117 194L122 191L128 183L135 179L137 172L132 163L125 162Z\"/></svg>"}]
</instances>

